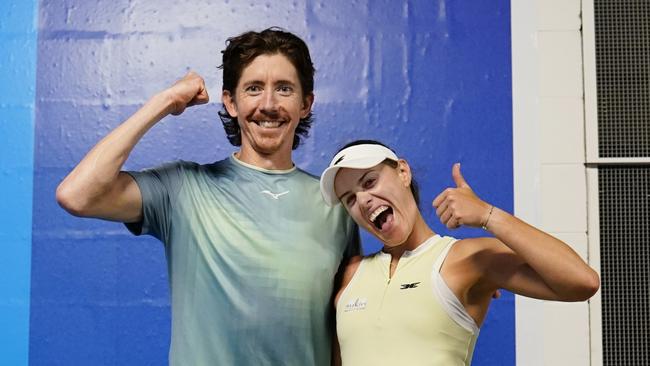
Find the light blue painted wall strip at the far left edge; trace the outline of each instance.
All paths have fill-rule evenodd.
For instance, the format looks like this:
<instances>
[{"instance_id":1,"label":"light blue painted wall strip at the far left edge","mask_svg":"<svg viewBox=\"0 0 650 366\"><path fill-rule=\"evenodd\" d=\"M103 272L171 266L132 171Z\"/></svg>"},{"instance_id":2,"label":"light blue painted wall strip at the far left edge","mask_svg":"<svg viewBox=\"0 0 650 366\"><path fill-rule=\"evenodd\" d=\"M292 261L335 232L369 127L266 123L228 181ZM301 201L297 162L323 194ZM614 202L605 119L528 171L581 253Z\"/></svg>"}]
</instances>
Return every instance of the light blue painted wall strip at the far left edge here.
<instances>
[{"instance_id":1,"label":"light blue painted wall strip at the far left edge","mask_svg":"<svg viewBox=\"0 0 650 366\"><path fill-rule=\"evenodd\" d=\"M0 364L27 365L38 3L0 6Z\"/></svg>"}]
</instances>

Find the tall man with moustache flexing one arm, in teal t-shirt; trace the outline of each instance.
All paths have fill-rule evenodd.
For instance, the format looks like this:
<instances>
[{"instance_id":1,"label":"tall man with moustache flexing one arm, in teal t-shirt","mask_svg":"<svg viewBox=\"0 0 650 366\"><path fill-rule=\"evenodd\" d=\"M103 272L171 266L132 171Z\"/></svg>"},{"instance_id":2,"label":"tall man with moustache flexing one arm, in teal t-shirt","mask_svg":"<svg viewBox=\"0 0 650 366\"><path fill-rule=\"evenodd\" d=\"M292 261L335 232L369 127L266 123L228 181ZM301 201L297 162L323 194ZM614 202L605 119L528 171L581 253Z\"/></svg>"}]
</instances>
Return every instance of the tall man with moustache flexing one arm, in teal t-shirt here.
<instances>
[{"instance_id":1,"label":"tall man with moustache flexing one arm, in teal t-shirt","mask_svg":"<svg viewBox=\"0 0 650 366\"><path fill-rule=\"evenodd\" d=\"M165 244L172 296L170 364L326 365L330 297L354 223L325 206L292 150L311 123L309 50L279 29L230 38L223 51L230 142L213 164L123 172L133 147L168 114L208 102L187 74L101 140L63 180L73 215L125 222Z\"/></svg>"}]
</instances>

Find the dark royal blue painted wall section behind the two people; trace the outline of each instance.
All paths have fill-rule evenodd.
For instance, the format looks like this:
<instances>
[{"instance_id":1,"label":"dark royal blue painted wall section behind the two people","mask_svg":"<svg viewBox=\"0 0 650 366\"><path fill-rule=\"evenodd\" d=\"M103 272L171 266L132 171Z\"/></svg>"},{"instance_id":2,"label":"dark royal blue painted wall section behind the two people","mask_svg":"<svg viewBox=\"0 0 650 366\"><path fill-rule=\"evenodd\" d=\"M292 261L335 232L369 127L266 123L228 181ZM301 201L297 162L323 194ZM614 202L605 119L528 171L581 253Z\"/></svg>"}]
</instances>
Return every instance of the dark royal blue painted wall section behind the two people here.
<instances>
[{"instance_id":1,"label":"dark royal blue painted wall section behind the two people","mask_svg":"<svg viewBox=\"0 0 650 366\"><path fill-rule=\"evenodd\" d=\"M169 292L163 248L118 223L71 217L60 180L94 143L187 70L213 101L166 118L127 163L210 162L234 149L217 118L220 50L228 36L278 25L312 50L316 122L295 155L320 173L357 138L407 158L431 200L451 165L512 211L510 9L473 1L43 1L39 10L29 357L34 365L164 364ZM364 237L367 250L377 243ZM476 365L513 365L514 300L494 302Z\"/></svg>"}]
</instances>

